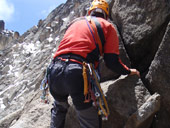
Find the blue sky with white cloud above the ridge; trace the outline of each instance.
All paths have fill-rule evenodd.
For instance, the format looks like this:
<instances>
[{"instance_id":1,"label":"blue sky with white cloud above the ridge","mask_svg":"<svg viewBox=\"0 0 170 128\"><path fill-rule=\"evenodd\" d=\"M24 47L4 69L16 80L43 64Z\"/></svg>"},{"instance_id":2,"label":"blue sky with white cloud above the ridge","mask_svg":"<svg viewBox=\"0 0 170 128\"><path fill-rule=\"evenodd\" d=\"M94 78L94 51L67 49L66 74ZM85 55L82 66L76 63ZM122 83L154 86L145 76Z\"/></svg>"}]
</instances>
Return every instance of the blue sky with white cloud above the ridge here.
<instances>
[{"instance_id":1,"label":"blue sky with white cloud above the ridge","mask_svg":"<svg viewBox=\"0 0 170 128\"><path fill-rule=\"evenodd\" d=\"M66 0L0 0L0 20L5 29L21 34L45 19L48 14Z\"/></svg>"}]
</instances>

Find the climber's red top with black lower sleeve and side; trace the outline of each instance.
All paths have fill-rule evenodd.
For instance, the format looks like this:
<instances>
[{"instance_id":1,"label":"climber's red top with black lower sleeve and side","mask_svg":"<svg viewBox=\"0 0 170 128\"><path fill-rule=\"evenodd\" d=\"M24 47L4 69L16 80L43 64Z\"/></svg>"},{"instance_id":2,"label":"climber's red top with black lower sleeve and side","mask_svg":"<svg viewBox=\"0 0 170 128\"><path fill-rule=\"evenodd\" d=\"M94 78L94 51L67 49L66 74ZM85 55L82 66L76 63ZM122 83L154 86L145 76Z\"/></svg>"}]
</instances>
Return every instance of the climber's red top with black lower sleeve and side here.
<instances>
[{"instance_id":1,"label":"climber's red top with black lower sleeve and side","mask_svg":"<svg viewBox=\"0 0 170 128\"><path fill-rule=\"evenodd\" d=\"M105 44L106 66L119 74L129 74L130 70L119 59L119 39L114 26L103 18L97 18L102 27ZM93 28L91 27L91 30ZM94 33L94 31L93 31ZM77 54L89 62L99 60L99 52L85 19L74 22L66 31L54 58L62 54Z\"/></svg>"}]
</instances>

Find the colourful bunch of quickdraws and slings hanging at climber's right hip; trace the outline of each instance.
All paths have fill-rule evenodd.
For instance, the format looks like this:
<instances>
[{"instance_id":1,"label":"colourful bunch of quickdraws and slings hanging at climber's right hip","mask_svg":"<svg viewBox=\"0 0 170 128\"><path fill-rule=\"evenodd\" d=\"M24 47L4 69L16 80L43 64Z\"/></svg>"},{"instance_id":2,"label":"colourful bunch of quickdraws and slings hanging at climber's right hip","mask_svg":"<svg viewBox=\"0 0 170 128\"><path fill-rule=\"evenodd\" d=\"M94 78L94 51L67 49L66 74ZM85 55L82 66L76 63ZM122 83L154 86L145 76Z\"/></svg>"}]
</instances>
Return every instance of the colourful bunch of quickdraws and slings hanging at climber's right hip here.
<instances>
[{"instance_id":1,"label":"colourful bunch of quickdraws and slings hanging at climber's right hip","mask_svg":"<svg viewBox=\"0 0 170 128\"><path fill-rule=\"evenodd\" d=\"M98 114L103 120L107 120L110 114L106 98L101 89L97 72L94 66L89 63L83 63L83 78L84 78L84 102L93 101L93 105L98 108Z\"/></svg>"}]
</instances>

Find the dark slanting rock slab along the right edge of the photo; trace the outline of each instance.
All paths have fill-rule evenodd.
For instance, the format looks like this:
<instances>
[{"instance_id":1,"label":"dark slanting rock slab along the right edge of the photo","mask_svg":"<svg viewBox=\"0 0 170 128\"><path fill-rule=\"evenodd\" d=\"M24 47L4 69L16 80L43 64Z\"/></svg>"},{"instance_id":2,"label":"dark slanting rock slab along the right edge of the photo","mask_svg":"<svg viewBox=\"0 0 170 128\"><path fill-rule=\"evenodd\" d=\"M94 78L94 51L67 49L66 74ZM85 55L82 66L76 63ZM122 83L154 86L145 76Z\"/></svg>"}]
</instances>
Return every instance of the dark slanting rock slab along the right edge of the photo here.
<instances>
[{"instance_id":1,"label":"dark slanting rock slab along the right edge of the photo","mask_svg":"<svg viewBox=\"0 0 170 128\"><path fill-rule=\"evenodd\" d=\"M155 128L168 128L170 123L170 23L167 26L164 38L159 46L154 60L151 63L149 72L146 75L147 86L151 92L158 92L161 95L161 110L155 121ZM158 121L157 121L158 120Z\"/></svg>"}]
</instances>

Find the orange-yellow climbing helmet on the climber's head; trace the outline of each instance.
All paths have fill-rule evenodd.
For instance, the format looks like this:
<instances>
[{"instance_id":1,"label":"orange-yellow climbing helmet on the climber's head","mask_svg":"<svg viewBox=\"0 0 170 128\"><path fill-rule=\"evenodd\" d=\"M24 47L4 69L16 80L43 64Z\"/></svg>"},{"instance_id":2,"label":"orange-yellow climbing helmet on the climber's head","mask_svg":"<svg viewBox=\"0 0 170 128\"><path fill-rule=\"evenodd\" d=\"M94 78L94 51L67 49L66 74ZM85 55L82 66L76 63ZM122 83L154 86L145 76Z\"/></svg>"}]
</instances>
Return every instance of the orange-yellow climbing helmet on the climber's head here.
<instances>
[{"instance_id":1,"label":"orange-yellow climbing helmet on the climber's head","mask_svg":"<svg viewBox=\"0 0 170 128\"><path fill-rule=\"evenodd\" d=\"M102 9L107 16L109 15L109 5L105 0L93 0L91 7L88 11L88 14L90 15L91 11L96 8Z\"/></svg>"}]
</instances>

